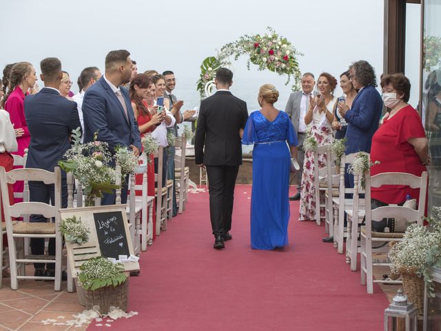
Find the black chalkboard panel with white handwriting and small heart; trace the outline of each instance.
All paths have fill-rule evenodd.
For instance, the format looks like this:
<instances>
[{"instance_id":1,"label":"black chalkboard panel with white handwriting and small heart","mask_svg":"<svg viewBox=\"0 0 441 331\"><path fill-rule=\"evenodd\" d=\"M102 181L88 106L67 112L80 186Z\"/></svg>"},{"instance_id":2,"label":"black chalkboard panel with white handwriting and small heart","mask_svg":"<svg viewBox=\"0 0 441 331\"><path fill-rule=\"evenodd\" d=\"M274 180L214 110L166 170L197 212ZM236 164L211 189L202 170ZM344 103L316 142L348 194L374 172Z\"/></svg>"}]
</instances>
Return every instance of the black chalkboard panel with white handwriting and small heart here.
<instances>
[{"instance_id":1,"label":"black chalkboard panel with white handwriting and small heart","mask_svg":"<svg viewBox=\"0 0 441 331\"><path fill-rule=\"evenodd\" d=\"M124 211L125 212L125 211ZM122 212L94 212L96 234L103 257L119 255L130 256L127 237L125 237Z\"/></svg>"}]
</instances>

